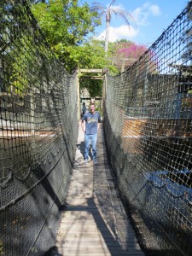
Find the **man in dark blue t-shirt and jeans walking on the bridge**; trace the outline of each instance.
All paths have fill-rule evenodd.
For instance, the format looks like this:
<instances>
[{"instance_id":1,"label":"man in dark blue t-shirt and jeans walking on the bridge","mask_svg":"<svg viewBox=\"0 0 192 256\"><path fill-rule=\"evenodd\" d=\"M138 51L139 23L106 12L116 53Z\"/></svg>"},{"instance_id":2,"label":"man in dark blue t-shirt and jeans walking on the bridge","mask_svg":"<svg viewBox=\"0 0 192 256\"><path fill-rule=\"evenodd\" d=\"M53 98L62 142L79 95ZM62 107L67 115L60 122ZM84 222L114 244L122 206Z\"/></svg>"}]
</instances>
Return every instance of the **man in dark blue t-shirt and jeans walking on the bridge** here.
<instances>
[{"instance_id":1,"label":"man in dark blue t-shirt and jeans walking on the bridge","mask_svg":"<svg viewBox=\"0 0 192 256\"><path fill-rule=\"evenodd\" d=\"M96 107L94 103L90 103L90 112L84 113L81 119L81 127L84 131L84 162L88 162L89 150L90 150L90 140L92 146L92 160L94 165L97 164L96 160L96 141L97 141L97 131L100 128L101 115L96 112Z\"/></svg>"}]
</instances>

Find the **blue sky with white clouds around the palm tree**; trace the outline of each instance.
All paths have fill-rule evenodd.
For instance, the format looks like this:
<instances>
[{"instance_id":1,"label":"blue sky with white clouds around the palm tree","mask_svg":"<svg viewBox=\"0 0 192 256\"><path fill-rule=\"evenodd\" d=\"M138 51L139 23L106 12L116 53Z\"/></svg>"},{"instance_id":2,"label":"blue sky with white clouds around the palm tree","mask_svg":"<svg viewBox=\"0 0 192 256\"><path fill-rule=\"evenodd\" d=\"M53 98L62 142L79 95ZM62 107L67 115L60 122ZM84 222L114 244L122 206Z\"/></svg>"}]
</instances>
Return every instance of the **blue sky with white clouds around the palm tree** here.
<instances>
[{"instance_id":1,"label":"blue sky with white clouds around the palm tree","mask_svg":"<svg viewBox=\"0 0 192 256\"><path fill-rule=\"evenodd\" d=\"M79 3L89 4L96 2L108 6L112 0L79 0ZM136 20L136 24L131 23L130 29L125 26L125 21L118 16L113 16L111 20L109 41L125 38L144 44L150 47L172 24L185 8L188 0L116 0L113 5L124 9ZM102 26L96 28L96 37L103 38L105 35L105 19L102 19Z\"/></svg>"}]
</instances>

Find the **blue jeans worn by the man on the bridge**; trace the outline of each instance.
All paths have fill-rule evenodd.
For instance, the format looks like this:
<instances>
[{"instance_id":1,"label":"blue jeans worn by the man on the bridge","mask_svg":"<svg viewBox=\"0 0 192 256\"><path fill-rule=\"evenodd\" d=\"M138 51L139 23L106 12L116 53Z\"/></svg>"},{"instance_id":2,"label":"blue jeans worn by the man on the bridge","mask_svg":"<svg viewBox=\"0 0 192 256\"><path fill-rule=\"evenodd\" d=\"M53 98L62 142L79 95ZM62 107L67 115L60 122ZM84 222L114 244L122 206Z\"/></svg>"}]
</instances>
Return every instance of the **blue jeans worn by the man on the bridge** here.
<instances>
[{"instance_id":1,"label":"blue jeans worn by the man on the bridge","mask_svg":"<svg viewBox=\"0 0 192 256\"><path fill-rule=\"evenodd\" d=\"M92 146L92 160L96 160L97 133L96 134L85 134L84 133L84 143L85 143L84 160L88 159L88 155L89 155L89 151L90 151L90 140L91 140L91 146Z\"/></svg>"}]
</instances>

